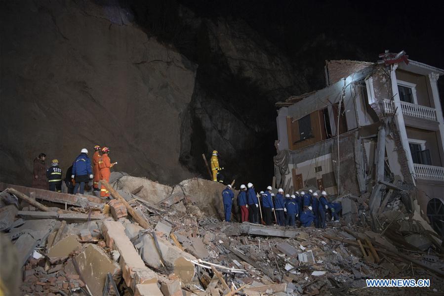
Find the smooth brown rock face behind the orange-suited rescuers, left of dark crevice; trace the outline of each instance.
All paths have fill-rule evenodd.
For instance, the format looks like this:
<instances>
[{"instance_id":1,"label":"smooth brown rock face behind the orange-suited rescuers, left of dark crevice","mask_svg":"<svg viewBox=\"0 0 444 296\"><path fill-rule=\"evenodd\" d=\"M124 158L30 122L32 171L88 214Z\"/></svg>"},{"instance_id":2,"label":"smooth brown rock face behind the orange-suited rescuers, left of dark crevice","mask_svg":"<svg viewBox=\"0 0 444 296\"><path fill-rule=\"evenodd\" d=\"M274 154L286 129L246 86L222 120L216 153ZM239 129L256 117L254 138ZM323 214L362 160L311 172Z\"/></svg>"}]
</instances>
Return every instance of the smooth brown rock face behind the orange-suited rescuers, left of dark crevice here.
<instances>
[{"instance_id":1,"label":"smooth brown rock face behind the orange-suited rescuers, left of dark crevice","mask_svg":"<svg viewBox=\"0 0 444 296\"><path fill-rule=\"evenodd\" d=\"M180 123L197 65L90 1L1 2L0 179L30 185L32 159L70 166L111 147L119 169L165 183L179 163Z\"/></svg>"}]
</instances>

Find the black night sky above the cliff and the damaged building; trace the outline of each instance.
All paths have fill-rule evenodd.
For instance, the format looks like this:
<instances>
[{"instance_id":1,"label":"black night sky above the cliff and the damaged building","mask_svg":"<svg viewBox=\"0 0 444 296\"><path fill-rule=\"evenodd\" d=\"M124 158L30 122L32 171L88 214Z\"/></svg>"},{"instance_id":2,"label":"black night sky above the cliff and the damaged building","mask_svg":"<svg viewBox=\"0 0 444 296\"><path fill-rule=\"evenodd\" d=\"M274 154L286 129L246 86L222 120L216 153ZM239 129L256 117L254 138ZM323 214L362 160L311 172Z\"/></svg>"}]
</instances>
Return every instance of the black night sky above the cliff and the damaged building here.
<instances>
[{"instance_id":1,"label":"black night sky above the cliff and the damaged building","mask_svg":"<svg viewBox=\"0 0 444 296\"><path fill-rule=\"evenodd\" d=\"M234 17L291 56L305 41L324 34L342 46L362 49L375 61L384 49L404 49L411 59L444 68L444 4L434 1L295 1L193 0L181 1L208 17ZM372 54L370 54L372 53ZM330 52L321 60L355 59L353 51Z\"/></svg>"}]
</instances>

